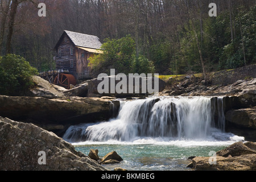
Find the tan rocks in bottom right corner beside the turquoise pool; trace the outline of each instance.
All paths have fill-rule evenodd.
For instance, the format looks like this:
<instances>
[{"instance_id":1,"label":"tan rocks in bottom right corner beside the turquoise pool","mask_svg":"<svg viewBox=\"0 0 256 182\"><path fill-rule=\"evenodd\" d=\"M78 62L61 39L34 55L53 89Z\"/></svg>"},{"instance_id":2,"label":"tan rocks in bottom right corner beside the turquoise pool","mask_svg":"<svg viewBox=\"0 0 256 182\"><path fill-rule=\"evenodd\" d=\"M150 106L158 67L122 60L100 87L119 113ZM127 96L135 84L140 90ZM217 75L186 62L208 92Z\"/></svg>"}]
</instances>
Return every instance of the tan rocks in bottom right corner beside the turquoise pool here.
<instances>
[{"instance_id":1,"label":"tan rocks in bottom right corner beside the turquoise pool","mask_svg":"<svg viewBox=\"0 0 256 182\"><path fill-rule=\"evenodd\" d=\"M188 167L196 171L255 171L256 143L236 142L216 156L193 158Z\"/></svg>"}]
</instances>

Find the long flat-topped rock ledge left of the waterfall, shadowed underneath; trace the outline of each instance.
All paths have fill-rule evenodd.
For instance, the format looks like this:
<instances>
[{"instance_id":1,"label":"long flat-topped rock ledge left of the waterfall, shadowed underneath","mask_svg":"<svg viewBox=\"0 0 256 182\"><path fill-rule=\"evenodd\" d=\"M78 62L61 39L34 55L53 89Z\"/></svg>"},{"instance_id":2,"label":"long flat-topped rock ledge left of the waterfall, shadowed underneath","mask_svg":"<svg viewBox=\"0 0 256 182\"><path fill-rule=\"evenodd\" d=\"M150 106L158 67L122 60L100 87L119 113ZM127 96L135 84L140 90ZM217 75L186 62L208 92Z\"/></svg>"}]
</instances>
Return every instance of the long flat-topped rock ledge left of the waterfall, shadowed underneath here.
<instances>
[{"instance_id":1,"label":"long flat-topped rock ledge left of the waterfall, shadowed underneath","mask_svg":"<svg viewBox=\"0 0 256 182\"><path fill-rule=\"evenodd\" d=\"M48 99L0 96L0 115L16 121L40 124L40 126L63 125L65 128L71 123L76 125L109 119L112 117L111 103L111 100L101 98Z\"/></svg>"}]
</instances>

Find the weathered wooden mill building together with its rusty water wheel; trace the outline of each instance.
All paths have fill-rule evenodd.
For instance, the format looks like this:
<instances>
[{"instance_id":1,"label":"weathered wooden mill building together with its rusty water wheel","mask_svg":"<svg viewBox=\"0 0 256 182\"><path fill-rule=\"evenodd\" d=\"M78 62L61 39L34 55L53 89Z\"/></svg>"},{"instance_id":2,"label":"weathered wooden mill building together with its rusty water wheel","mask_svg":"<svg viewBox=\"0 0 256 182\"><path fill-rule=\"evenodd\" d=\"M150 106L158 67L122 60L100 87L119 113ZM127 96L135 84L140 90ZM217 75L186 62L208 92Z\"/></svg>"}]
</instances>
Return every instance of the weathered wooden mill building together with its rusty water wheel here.
<instances>
[{"instance_id":1,"label":"weathered wooden mill building together with its rusty water wheel","mask_svg":"<svg viewBox=\"0 0 256 182\"><path fill-rule=\"evenodd\" d=\"M97 36L64 30L54 48L56 70L40 72L40 76L67 89L77 80L92 78L89 57L102 53L101 45Z\"/></svg>"}]
</instances>

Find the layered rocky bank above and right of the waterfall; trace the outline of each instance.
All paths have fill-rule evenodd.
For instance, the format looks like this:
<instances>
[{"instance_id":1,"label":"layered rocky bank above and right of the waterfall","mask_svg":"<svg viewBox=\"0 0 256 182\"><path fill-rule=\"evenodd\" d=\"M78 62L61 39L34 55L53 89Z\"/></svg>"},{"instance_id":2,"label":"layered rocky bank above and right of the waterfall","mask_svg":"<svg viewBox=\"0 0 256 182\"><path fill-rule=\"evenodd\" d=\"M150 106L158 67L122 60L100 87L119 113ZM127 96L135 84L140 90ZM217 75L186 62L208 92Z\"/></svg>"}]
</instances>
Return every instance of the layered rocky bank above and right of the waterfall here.
<instances>
[{"instance_id":1,"label":"layered rocky bank above and right of the waterfall","mask_svg":"<svg viewBox=\"0 0 256 182\"><path fill-rule=\"evenodd\" d=\"M223 97L226 131L256 141L256 78L237 80L229 85L205 85L195 77L172 84L161 96Z\"/></svg>"}]
</instances>

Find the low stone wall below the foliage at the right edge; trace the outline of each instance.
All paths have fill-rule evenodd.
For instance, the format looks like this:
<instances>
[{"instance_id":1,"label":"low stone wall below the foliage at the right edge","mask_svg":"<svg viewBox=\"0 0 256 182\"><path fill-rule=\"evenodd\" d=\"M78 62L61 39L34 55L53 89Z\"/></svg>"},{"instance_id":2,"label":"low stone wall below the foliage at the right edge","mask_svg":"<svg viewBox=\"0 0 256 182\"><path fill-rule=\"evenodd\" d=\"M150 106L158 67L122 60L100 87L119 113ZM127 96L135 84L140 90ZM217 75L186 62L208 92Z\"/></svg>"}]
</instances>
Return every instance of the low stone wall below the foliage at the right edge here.
<instances>
[{"instance_id":1,"label":"low stone wall below the foliage at the right edge","mask_svg":"<svg viewBox=\"0 0 256 182\"><path fill-rule=\"evenodd\" d=\"M211 76L213 85L233 84L237 80L245 80L246 78L256 77L256 64L248 65L237 69L224 70L213 73Z\"/></svg>"}]
</instances>

